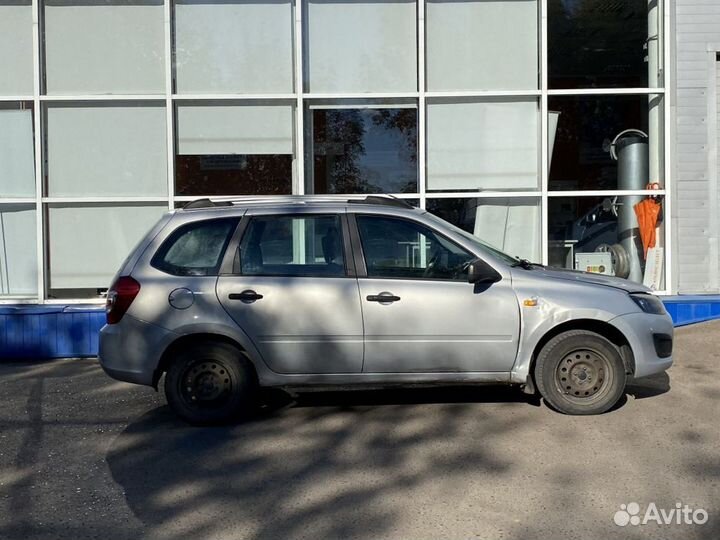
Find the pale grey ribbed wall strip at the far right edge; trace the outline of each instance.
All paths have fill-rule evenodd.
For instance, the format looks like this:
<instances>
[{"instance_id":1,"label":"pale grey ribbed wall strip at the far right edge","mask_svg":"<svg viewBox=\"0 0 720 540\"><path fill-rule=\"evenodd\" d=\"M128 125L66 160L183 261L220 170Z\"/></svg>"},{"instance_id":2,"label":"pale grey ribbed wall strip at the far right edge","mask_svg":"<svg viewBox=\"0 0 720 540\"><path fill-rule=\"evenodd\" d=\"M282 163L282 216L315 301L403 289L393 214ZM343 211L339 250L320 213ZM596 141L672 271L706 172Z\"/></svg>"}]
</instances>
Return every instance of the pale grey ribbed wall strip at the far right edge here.
<instances>
[{"instance_id":1,"label":"pale grey ribbed wall strip at the far right edge","mask_svg":"<svg viewBox=\"0 0 720 540\"><path fill-rule=\"evenodd\" d=\"M720 292L720 2L675 0L679 293Z\"/></svg>"}]
</instances>

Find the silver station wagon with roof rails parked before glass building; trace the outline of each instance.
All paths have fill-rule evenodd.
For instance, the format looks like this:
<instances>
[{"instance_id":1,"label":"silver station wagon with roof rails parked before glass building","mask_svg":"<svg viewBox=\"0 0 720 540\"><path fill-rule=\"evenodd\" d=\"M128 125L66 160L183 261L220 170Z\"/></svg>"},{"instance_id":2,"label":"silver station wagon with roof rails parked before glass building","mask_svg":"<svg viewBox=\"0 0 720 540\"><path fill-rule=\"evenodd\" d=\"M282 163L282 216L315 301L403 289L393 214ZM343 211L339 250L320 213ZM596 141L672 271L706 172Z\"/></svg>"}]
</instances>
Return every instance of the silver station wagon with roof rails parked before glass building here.
<instances>
[{"instance_id":1,"label":"silver station wagon with roof rails parked before glass building","mask_svg":"<svg viewBox=\"0 0 720 540\"><path fill-rule=\"evenodd\" d=\"M403 201L203 199L163 216L107 297L100 362L194 424L260 387L519 385L597 414L672 364L651 291L511 257Z\"/></svg>"}]
</instances>

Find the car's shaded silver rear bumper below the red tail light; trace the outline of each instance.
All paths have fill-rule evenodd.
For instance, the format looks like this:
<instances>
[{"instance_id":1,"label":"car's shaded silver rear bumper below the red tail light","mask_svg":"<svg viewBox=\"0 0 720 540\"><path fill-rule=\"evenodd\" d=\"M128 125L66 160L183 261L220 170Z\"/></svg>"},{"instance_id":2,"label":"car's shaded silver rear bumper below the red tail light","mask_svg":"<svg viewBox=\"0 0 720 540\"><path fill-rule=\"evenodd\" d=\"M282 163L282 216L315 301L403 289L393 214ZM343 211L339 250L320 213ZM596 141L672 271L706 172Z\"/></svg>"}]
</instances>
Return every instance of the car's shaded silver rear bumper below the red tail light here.
<instances>
[{"instance_id":1,"label":"car's shaded silver rear bumper below the red tail light","mask_svg":"<svg viewBox=\"0 0 720 540\"><path fill-rule=\"evenodd\" d=\"M125 314L100 330L100 365L113 379L152 385L162 353L177 335Z\"/></svg>"}]
</instances>

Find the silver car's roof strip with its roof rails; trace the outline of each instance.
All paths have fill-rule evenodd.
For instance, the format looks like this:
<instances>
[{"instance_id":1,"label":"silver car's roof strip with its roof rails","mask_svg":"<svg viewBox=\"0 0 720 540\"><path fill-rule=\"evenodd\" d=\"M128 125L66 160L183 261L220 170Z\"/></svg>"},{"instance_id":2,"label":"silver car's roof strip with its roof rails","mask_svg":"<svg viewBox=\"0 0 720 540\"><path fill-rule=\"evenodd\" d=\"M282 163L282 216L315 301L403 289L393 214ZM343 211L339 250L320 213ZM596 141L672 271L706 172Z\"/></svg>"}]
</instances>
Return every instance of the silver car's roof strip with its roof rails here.
<instances>
[{"instance_id":1,"label":"silver car's roof strip with its roof rails","mask_svg":"<svg viewBox=\"0 0 720 540\"><path fill-rule=\"evenodd\" d=\"M393 197L391 195L368 195L365 197L344 196L338 197L333 195L270 195L262 197L213 197L205 199L196 199L183 206L183 211L207 210L226 208L247 208L251 206L288 206L288 205L373 205L373 206L392 206L396 208L414 208L407 201Z\"/></svg>"}]
</instances>

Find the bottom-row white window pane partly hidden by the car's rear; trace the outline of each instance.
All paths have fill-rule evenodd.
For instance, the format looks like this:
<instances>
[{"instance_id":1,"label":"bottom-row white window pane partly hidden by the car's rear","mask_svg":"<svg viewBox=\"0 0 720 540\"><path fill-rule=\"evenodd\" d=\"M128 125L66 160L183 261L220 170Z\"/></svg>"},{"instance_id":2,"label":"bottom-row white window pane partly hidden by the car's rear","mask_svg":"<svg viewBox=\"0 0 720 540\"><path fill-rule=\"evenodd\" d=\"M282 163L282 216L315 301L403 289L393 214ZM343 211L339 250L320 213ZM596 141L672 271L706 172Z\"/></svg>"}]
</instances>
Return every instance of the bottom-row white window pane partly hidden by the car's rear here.
<instances>
[{"instance_id":1,"label":"bottom-row white window pane partly hidden by the car's rear","mask_svg":"<svg viewBox=\"0 0 720 540\"><path fill-rule=\"evenodd\" d=\"M97 296L167 205L53 204L48 208L49 297Z\"/></svg>"}]
</instances>

